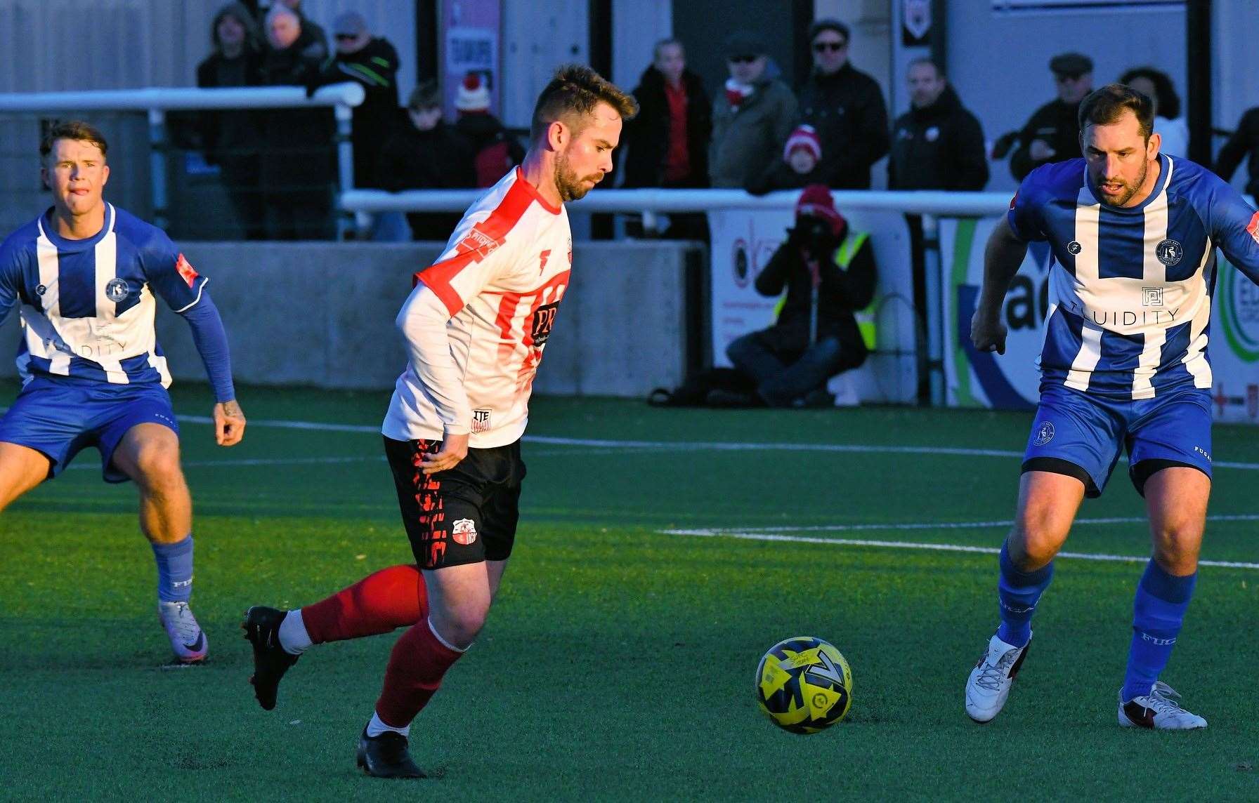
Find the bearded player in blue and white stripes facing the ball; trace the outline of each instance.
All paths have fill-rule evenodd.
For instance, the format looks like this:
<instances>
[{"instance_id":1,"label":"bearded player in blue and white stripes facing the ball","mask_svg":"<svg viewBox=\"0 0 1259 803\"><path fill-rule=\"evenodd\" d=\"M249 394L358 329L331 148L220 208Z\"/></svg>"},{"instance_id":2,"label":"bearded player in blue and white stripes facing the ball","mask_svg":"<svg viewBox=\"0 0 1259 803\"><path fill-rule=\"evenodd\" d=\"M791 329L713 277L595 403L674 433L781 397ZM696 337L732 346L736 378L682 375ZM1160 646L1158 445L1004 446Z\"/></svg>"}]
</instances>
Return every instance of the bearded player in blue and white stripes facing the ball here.
<instances>
[{"instance_id":1,"label":"bearded player in blue and white stripes facing the ball","mask_svg":"<svg viewBox=\"0 0 1259 803\"><path fill-rule=\"evenodd\" d=\"M1215 249L1259 282L1259 213L1210 171L1160 154L1146 96L1109 84L1084 98L1079 118L1084 157L1024 179L988 240L971 322L977 349L1005 351L1002 298L1027 243L1047 240L1040 407L1001 549L1001 624L967 681L966 710L981 722L1001 711L1053 559L1126 448L1153 556L1137 585L1119 724L1205 727L1158 676L1194 592L1211 491Z\"/></svg>"}]
</instances>

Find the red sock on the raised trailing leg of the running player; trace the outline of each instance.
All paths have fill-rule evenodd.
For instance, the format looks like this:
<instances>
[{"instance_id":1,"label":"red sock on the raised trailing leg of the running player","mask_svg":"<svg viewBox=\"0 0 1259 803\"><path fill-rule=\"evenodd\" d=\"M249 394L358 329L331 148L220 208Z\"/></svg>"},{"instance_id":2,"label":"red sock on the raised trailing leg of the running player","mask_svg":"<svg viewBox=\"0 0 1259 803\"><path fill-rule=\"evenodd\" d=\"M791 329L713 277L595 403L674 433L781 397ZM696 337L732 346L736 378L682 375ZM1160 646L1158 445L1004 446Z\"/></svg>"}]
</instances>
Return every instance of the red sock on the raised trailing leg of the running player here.
<instances>
[{"instance_id":1,"label":"red sock on the raised trailing leg of the running player","mask_svg":"<svg viewBox=\"0 0 1259 803\"><path fill-rule=\"evenodd\" d=\"M427 619L424 575L413 565L381 569L302 608L306 632L316 644L388 633Z\"/></svg>"}]
</instances>

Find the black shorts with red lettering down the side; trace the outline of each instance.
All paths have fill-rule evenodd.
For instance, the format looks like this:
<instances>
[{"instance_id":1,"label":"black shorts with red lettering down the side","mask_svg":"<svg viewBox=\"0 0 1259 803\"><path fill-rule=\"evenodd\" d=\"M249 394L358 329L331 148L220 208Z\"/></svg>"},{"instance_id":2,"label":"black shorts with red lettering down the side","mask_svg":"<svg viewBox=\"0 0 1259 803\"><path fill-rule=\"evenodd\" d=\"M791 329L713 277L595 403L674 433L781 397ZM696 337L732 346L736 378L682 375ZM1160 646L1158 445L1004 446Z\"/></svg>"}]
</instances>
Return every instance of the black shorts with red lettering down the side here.
<instances>
[{"instance_id":1,"label":"black shorts with red lettering down the side","mask_svg":"<svg viewBox=\"0 0 1259 803\"><path fill-rule=\"evenodd\" d=\"M436 474L419 467L439 441L385 438L385 457L398 490L402 524L421 569L506 560L520 519L525 463L520 441L468 449L460 464Z\"/></svg>"}]
</instances>

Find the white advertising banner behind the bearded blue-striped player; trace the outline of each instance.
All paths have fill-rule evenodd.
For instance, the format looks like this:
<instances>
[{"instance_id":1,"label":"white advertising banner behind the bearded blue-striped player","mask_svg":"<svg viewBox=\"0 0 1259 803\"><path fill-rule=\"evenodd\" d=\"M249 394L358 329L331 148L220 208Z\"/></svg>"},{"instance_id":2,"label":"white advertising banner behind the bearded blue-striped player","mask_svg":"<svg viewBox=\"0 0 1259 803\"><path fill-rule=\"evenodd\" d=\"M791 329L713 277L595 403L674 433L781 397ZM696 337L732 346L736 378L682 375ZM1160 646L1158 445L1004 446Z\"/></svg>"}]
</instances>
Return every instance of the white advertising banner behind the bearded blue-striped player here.
<instances>
[{"instance_id":1,"label":"white advertising banner behind the bearded blue-striped player","mask_svg":"<svg viewBox=\"0 0 1259 803\"><path fill-rule=\"evenodd\" d=\"M944 316L946 403L949 407L1031 409L1040 395L1036 357L1049 307L1049 247L1032 243L1001 308L1010 328L1005 355L971 345L971 316L983 282L983 245L1002 218L939 222L940 311ZM1207 355L1215 418L1259 420L1259 288L1217 256Z\"/></svg>"}]
</instances>

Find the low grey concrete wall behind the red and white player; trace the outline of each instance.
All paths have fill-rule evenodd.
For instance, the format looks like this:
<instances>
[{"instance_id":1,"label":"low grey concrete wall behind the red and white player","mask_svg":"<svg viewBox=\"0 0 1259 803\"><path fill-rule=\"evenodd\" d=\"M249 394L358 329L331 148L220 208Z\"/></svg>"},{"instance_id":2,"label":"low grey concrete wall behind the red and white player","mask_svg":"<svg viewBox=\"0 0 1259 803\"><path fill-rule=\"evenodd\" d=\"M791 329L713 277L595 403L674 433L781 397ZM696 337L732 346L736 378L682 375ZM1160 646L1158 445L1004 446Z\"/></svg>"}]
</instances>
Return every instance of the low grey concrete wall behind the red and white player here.
<instances>
[{"instance_id":1,"label":"low grey concrete wall behind the red and white player","mask_svg":"<svg viewBox=\"0 0 1259 803\"><path fill-rule=\"evenodd\" d=\"M694 248L575 243L573 283L534 388L560 395L643 396L682 381L684 266ZM394 316L437 243L188 243L232 345L239 383L392 388L405 365ZM0 375L14 374L16 315L0 327ZM204 381L188 326L161 308L157 339L176 381ZM6 345L8 344L8 345Z\"/></svg>"}]
</instances>

